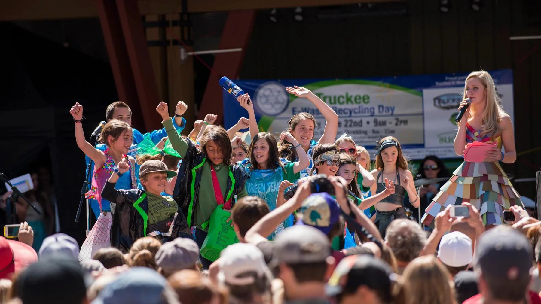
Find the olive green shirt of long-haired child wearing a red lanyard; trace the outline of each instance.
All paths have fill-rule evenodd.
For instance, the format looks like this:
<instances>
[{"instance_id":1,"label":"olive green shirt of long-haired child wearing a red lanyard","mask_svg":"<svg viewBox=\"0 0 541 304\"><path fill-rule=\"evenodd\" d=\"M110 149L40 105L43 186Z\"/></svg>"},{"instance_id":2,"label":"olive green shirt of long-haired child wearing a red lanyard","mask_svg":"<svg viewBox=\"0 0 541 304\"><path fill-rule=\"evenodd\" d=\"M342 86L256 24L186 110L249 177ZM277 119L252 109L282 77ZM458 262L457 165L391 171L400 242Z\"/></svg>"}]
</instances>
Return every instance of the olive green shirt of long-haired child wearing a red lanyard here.
<instances>
[{"instance_id":1,"label":"olive green shirt of long-haired child wearing a red lanyard","mask_svg":"<svg viewBox=\"0 0 541 304\"><path fill-rule=\"evenodd\" d=\"M220 190L222 191L223 200L227 199L227 181L229 180L229 166L214 166L216 171L216 177L220 184ZM244 187L237 193L237 200L242 197L248 196ZM210 165L207 160L203 164L203 171L201 173L201 183L199 186L199 197L197 197L197 205L195 206L195 227L201 229L201 225L210 219L210 215L214 212L214 209L218 206L216 196L214 195L214 187L212 185L212 173L210 173ZM208 232L207 229L204 229Z\"/></svg>"}]
</instances>

